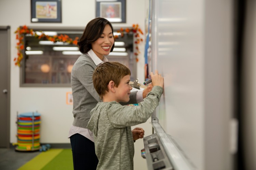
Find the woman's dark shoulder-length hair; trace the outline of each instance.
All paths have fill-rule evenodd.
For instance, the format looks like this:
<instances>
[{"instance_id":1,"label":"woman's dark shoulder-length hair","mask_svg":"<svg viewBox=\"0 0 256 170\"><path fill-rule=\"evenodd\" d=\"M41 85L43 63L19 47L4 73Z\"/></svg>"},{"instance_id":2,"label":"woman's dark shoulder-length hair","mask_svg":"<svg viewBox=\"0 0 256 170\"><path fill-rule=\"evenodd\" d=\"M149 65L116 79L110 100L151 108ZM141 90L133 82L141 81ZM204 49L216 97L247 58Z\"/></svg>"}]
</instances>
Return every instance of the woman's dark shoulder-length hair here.
<instances>
[{"instance_id":1,"label":"woman's dark shoulder-length hair","mask_svg":"<svg viewBox=\"0 0 256 170\"><path fill-rule=\"evenodd\" d=\"M109 24L111 27L112 33L113 33L113 27L112 24L106 20L105 18L95 18L88 22L88 24L85 27L84 33L82 37L80 38L80 41L78 41L77 45L79 46L79 50L81 53L87 53L91 49L91 43L96 41L101 34L103 33L103 30L106 26L106 24ZM113 51L115 44L113 44L110 52Z\"/></svg>"}]
</instances>

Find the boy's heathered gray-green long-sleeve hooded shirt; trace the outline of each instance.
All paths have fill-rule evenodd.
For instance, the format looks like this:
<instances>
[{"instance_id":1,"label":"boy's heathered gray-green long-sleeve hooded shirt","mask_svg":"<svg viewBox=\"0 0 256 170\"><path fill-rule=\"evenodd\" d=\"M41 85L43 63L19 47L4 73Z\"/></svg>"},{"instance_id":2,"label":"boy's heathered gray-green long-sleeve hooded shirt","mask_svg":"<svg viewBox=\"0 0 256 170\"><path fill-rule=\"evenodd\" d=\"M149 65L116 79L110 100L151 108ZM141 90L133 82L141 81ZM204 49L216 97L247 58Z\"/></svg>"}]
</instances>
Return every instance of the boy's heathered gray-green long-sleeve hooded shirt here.
<instances>
[{"instance_id":1,"label":"boy's heathered gray-green long-sleeve hooded shirt","mask_svg":"<svg viewBox=\"0 0 256 170\"><path fill-rule=\"evenodd\" d=\"M87 128L94 133L97 169L133 169L134 144L131 126L144 123L158 106L163 88L154 86L138 106L99 102L90 112Z\"/></svg>"}]
</instances>

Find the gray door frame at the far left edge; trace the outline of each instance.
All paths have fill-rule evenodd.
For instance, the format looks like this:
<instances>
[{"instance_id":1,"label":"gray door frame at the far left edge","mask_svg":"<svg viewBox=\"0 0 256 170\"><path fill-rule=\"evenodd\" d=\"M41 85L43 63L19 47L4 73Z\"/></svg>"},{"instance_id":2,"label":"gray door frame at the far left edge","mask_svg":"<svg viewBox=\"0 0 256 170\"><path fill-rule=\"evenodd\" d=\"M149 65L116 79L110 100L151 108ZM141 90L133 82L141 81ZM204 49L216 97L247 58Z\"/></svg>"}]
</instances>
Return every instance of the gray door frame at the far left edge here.
<instances>
[{"instance_id":1,"label":"gray door frame at the far left edge","mask_svg":"<svg viewBox=\"0 0 256 170\"><path fill-rule=\"evenodd\" d=\"M10 144L10 96L11 96L11 27L10 26L0 26L1 30L6 30L7 31L7 88L8 88L8 93L7 93L7 143L6 146L9 149L11 144Z\"/></svg>"}]
</instances>

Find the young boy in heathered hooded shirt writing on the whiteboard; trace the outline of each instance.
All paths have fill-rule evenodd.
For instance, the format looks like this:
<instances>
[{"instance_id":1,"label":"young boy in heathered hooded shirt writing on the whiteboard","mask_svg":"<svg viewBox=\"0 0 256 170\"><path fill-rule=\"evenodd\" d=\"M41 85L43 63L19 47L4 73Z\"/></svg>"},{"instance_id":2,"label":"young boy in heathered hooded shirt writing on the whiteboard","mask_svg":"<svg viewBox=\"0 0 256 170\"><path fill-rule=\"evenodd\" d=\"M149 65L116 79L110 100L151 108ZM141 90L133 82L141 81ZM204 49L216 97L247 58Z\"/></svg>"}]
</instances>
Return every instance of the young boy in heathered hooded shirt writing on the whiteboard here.
<instances>
[{"instance_id":1,"label":"young boy in heathered hooded shirt writing on the whiteboard","mask_svg":"<svg viewBox=\"0 0 256 170\"><path fill-rule=\"evenodd\" d=\"M133 169L134 144L131 126L144 123L158 106L163 92L163 78L151 72L153 88L138 106L128 102L130 70L117 62L105 62L93 73L93 84L103 102L90 112L87 128L94 133L97 169Z\"/></svg>"}]
</instances>

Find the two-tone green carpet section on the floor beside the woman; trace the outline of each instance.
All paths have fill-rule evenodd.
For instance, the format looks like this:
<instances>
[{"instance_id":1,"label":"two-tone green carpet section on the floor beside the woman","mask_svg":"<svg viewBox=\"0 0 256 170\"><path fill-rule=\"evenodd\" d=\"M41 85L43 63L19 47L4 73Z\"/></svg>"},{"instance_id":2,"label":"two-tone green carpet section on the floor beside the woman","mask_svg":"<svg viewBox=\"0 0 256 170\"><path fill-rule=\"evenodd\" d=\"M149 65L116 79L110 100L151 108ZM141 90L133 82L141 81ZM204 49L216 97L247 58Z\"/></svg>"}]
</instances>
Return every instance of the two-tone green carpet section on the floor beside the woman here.
<instances>
[{"instance_id":1,"label":"two-tone green carpet section on the floor beside the woman","mask_svg":"<svg viewBox=\"0 0 256 170\"><path fill-rule=\"evenodd\" d=\"M72 170L73 160L71 149L50 149L42 152L18 170Z\"/></svg>"}]
</instances>

